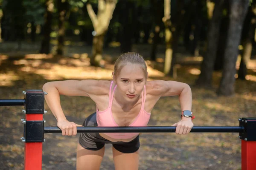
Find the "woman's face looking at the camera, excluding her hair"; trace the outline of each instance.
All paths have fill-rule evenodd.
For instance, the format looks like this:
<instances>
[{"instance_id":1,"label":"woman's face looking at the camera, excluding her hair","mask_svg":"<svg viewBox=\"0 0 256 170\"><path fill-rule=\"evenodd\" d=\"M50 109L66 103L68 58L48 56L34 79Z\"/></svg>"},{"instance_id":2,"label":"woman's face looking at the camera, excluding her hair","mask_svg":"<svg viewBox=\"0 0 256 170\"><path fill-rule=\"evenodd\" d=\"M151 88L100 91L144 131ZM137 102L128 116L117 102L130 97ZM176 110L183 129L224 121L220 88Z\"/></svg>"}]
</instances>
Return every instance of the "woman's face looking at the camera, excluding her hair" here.
<instances>
[{"instance_id":1,"label":"woman's face looking at the camera, excluding her hair","mask_svg":"<svg viewBox=\"0 0 256 170\"><path fill-rule=\"evenodd\" d=\"M140 64L126 64L114 80L121 95L131 101L137 99L143 91L146 77L143 66Z\"/></svg>"}]
</instances>

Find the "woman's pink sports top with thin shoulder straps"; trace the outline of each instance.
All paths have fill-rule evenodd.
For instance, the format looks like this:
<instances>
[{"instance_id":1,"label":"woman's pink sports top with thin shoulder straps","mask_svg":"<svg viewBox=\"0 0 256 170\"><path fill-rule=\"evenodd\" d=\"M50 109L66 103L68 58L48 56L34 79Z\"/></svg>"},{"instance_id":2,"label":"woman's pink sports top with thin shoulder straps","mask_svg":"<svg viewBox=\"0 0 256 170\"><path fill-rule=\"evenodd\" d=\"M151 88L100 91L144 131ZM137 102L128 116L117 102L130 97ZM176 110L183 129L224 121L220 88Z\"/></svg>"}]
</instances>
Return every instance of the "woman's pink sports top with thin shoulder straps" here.
<instances>
[{"instance_id":1,"label":"woman's pink sports top with thin shoulder straps","mask_svg":"<svg viewBox=\"0 0 256 170\"><path fill-rule=\"evenodd\" d=\"M113 89L113 92L111 94L111 89L112 89L112 84L113 81L111 82L110 89L109 89L109 104L108 108L105 111L99 111L98 108L96 108L96 117L97 117L97 123L98 126L119 126L116 124L115 120L113 119L112 115L112 102L114 98L114 92L116 90L116 85ZM140 108L140 113L138 114L137 118L134 120L134 122L131 123L129 126L147 126L148 121L150 119L151 113L148 113L144 110L144 104L145 104L145 99L146 99L146 87L144 85L144 95L141 95L142 98L142 104ZM107 136L110 136L113 139L130 139L134 136L139 135L140 133L104 133Z\"/></svg>"}]
</instances>

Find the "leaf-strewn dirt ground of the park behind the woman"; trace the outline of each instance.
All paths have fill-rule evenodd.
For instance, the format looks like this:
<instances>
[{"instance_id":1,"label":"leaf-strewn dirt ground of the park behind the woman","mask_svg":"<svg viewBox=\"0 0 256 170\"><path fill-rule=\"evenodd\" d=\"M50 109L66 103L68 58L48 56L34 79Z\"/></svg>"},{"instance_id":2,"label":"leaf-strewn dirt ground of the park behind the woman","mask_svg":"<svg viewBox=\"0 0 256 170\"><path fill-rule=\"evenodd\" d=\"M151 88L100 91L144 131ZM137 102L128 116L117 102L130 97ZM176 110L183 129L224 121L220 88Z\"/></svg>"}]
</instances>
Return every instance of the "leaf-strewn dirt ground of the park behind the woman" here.
<instances>
[{"instance_id":1,"label":"leaf-strewn dirt ground of the park behind the woman","mask_svg":"<svg viewBox=\"0 0 256 170\"><path fill-rule=\"evenodd\" d=\"M141 49L139 47L134 47ZM150 48L150 47L148 47ZM89 49L84 48L84 53ZM87 51L86 51L87 50ZM73 49L73 51L76 51ZM105 50L106 51L106 50ZM150 51L150 50L148 50ZM113 53L113 54L111 54ZM147 52L142 52L148 55ZM81 53L80 53L81 54ZM160 51L160 56L163 51ZM7 59L6 59L7 56ZM59 79L111 79L113 65L94 68L87 65L86 57L68 57L54 62L47 56L21 55L0 59L0 99L23 99L22 91L41 89L45 82ZM109 49L105 58L118 56ZM160 57L161 58L161 57ZM230 97L215 94L221 73L215 72L213 87L201 89L194 85L198 77L198 65L180 65L176 81L186 82L192 88L194 126L239 126L238 118L256 117L256 64L251 61L248 80L236 81L236 94ZM149 79L174 80L148 66ZM99 77L100 75L100 77ZM61 105L67 119L81 124L95 111L95 105L87 97L61 96ZM22 170L24 143L24 118L21 106L0 107L0 169ZM44 115L46 126L57 122L49 111ZM180 120L178 97L163 97L151 112L149 126L170 126ZM140 136L140 170L241 170L241 139L238 133L143 133ZM43 143L43 170L75 170L77 136L45 134ZM85 168L86 169L86 168ZM107 144L101 164L102 170L113 170L111 145Z\"/></svg>"}]
</instances>

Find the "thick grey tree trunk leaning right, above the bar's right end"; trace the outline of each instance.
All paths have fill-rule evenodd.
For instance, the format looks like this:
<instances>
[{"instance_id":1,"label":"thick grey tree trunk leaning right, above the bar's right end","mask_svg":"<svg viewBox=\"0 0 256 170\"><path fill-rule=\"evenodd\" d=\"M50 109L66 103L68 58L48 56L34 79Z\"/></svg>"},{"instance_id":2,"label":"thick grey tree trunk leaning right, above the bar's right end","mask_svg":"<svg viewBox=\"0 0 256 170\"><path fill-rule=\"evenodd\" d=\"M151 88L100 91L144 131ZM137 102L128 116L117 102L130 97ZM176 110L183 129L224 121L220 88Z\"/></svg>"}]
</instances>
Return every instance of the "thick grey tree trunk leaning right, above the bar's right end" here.
<instances>
[{"instance_id":1,"label":"thick grey tree trunk leaning right, above the bar's right end","mask_svg":"<svg viewBox=\"0 0 256 170\"><path fill-rule=\"evenodd\" d=\"M227 32L227 48L224 54L224 69L217 94L230 96L234 93L236 60L241 30L249 0L230 0L230 24Z\"/></svg>"}]
</instances>

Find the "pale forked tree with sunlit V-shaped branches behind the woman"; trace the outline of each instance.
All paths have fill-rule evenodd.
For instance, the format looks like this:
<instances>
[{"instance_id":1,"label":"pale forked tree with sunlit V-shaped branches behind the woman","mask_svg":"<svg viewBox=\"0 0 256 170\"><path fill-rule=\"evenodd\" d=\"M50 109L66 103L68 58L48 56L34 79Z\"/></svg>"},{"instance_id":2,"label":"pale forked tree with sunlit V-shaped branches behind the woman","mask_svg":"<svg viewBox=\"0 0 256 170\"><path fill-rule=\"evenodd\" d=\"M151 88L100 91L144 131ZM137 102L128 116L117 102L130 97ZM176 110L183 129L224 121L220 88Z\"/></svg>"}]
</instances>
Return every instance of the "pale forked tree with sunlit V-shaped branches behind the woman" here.
<instances>
[{"instance_id":1,"label":"pale forked tree with sunlit V-shaped branches behind the woman","mask_svg":"<svg viewBox=\"0 0 256 170\"><path fill-rule=\"evenodd\" d=\"M93 11L92 5L87 2L86 7L90 19L93 23L93 47L92 56L90 57L91 65L102 65L102 51L104 44L104 37L108 31L110 20L113 16L113 11L116 8L117 0L99 0L97 15Z\"/></svg>"}]
</instances>

